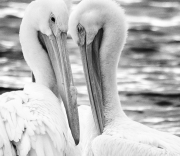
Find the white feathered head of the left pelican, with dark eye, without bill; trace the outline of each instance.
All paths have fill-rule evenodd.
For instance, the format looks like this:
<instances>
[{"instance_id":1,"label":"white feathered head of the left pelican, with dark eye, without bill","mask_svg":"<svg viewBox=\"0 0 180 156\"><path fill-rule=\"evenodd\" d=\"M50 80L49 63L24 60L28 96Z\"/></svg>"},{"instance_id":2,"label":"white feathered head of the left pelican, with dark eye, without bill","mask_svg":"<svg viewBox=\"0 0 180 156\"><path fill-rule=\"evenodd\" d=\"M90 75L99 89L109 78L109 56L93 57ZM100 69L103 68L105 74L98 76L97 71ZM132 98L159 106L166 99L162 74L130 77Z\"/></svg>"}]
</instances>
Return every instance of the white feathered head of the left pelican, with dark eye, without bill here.
<instances>
[{"instance_id":1,"label":"white feathered head of the left pelican, with dark eye, without bill","mask_svg":"<svg viewBox=\"0 0 180 156\"><path fill-rule=\"evenodd\" d=\"M67 32L69 13L64 1L34 1L26 10L26 18L28 24L47 36Z\"/></svg>"}]
</instances>

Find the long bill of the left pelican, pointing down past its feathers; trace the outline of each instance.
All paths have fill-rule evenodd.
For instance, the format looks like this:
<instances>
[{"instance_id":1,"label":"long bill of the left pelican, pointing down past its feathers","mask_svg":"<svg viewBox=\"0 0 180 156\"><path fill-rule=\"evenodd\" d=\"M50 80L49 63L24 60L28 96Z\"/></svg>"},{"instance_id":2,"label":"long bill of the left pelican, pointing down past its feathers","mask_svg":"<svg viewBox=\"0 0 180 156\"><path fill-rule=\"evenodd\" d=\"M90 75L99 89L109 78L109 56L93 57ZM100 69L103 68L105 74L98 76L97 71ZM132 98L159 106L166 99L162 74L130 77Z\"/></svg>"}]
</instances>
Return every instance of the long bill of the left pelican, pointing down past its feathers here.
<instances>
[{"instance_id":1,"label":"long bill of the left pelican, pointing down past its feathers","mask_svg":"<svg viewBox=\"0 0 180 156\"><path fill-rule=\"evenodd\" d=\"M79 143L79 117L77 109L77 91L74 86L68 51L66 49L67 32L62 32L50 21L52 34L40 33L39 39L44 43L54 69L58 90L65 106L69 127L76 145Z\"/></svg>"}]
</instances>

